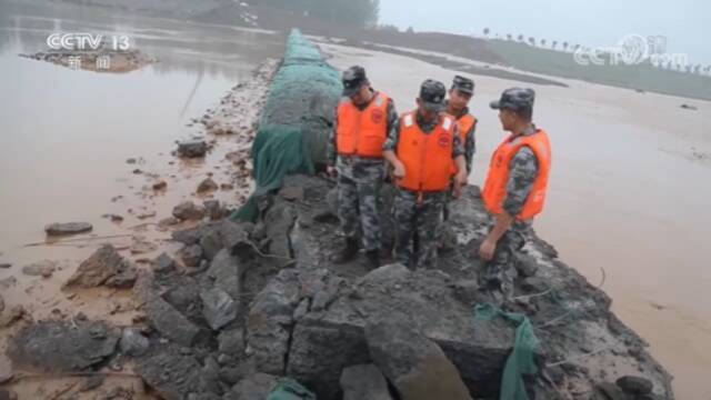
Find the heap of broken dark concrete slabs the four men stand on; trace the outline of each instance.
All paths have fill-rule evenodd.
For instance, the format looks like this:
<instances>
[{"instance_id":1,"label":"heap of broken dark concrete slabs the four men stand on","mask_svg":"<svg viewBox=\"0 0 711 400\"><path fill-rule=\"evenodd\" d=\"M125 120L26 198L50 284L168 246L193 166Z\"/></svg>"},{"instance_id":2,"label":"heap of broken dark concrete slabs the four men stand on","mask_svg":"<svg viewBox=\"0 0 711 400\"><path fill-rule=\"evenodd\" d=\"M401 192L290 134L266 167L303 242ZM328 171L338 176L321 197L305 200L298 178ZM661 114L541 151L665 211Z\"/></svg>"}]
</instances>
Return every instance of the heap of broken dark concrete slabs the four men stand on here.
<instances>
[{"instance_id":1,"label":"heap of broken dark concrete slabs the four men stand on","mask_svg":"<svg viewBox=\"0 0 711 400\"><path fill-rule=\"evenodd\" d=\"M611 299L534 231L505 313L481 318L494 299L479 290L472 254L492 221L477 187L452 203L452 248L438 269L369 270L362 256L329 261L341 243L333 181L278 180L253 200L253 220L206 219L172 233L180 257L160 256L133 284L146 313L136 326L32 323L10 340L13 363L86 372L131 362L168 400L262 400L289 386L282 377L308 390L270 399L673 399L671 376L610 311ZM384 210L393 196L383 189ZM385 232L388 223L383 212ZM121 274L121 266L107 246L79 272Z\"/></svg>"}]
</instances>

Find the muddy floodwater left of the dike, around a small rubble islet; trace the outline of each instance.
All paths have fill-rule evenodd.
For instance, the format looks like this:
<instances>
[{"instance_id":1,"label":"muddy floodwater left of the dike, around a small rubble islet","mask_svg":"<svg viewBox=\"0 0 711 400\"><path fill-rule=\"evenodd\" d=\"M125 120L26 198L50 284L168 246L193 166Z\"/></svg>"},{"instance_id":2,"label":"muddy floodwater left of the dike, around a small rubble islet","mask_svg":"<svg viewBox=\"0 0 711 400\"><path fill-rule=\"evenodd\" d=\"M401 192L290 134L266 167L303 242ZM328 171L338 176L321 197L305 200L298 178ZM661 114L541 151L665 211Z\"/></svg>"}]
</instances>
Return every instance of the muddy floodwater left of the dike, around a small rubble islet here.
<instances>
[{"instance_id":1,"label":"muddy floodwater left of the dike, around a small rubble islet","mask_svg":"<svg viewBox=\"0 0 711 400\"><path fill-rule=\"evenodd\" d=\"M122 214L124 226L134 222L129 209L139 216L162 207L158 217L168 217L169 204L190 192L177 190L181 180L169 181L150 210L131 203L131 194L151 178L169 179L162 172L196 171L189 163L169 164L179 163L170 154L173 141L200 133L193 118L283 51L283 39L263 31L71 6L0 2L0 251L13 264L38 257L38 248L19 247L42 240L52 221L83 220L94 233L112 234L120 228L102 214ZM57 31L119 32L159 62L112 74L18 57L46 51L47 37ZM222 200L236 202L229 194Z\"/></svg>"}]
</instances>

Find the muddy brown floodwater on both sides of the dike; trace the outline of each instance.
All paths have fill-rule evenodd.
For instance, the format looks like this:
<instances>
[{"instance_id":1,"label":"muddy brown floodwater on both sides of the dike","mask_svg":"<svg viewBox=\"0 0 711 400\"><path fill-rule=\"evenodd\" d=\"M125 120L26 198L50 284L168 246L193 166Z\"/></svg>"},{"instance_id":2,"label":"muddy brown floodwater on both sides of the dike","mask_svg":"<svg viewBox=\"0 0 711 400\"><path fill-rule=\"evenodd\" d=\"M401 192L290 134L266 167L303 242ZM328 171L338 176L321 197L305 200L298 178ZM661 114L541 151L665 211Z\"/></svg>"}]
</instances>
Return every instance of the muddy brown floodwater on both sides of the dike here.
<instances>
[{"instance_id":1,"label":"muddy brown floodwater on both sides of the dike","mask_svg":"<svg viewBox=\"0 0 711 400\"><path fill-rule=\"evenodd\" d=\"M18 57L46 51L56 31L120 32L159 62L113 74ZM414 107L422 80L449 83L455 73L402 56L323 49L339 69L365 67L400 112ZM0 263L12 264L0 269L0 280L18 280L0 286L8 307L26 304L42 318L67 306L59 287L96 249L44 246L46 224L91 222L93 234L126 236L113 243L127 248L143 224L160 242L167 236L151 223L193 197L208 174L228 181L231 164L219 163L224 147L206 161L187 162L170 153L174 141L202 134L197 119L282 51L283 36L269 31L0 1ZM487 104L522 83L474 79L480 122L471 183L481 184L502 137ZM538 92L534 119L554 152L550 200L535 227L563 261L603 282L614 311L675 376L678 399L711 399L711 102L555 79L569 88L527 84ZM147 190L157 180L168 189ZM212 197L236 207L241 196L223 190ZM123 220L102 218L107 213ZM60 262L54 277L22 274L22 266L43 259ZM91 296L79 296L82 310L108 312L91 308Z\"/></svg>"}]
</instances>

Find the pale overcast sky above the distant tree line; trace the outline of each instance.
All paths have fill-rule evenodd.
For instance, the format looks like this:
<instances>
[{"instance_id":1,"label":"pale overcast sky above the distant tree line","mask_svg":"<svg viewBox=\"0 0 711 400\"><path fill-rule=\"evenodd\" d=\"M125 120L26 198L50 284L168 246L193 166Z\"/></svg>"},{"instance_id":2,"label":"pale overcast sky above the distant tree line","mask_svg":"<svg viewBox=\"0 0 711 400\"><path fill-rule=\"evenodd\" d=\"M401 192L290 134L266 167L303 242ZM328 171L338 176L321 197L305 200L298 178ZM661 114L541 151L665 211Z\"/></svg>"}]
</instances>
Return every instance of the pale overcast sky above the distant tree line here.
<instances>
[{"instance_id":1,"label":"pale overcast sky above the distant tree line","mask_svg":"<svg viewBox=\"0 0 711 400\"><path fill-rule=\"evenodd\" d=\"M381 23L415 30L492 33L614 46L627 34L668 38L667 52L711 64L711 1L380 0Z\"/></svg>"}]
</instances>

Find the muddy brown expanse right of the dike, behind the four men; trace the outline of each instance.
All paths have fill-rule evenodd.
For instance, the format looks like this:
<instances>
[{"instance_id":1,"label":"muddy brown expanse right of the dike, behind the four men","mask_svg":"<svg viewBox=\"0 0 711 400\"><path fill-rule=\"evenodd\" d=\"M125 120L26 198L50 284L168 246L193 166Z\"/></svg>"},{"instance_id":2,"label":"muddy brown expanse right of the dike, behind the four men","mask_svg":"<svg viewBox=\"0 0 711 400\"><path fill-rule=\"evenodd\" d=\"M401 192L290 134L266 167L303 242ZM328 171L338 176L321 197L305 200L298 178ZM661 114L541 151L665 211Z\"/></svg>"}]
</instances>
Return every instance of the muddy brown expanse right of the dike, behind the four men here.
<instances>
[{"instance_id":1,"label":"muddy brown expanse right of the dike, behind the four men","mask_svg":"<svg viewBox=\"0 0 711 400\"><path fill-rule=\"evenodd\" d=\"M454 73L395 54L322 44L343 69L362 64L399 112L414 108L422 80L449 84ZM711 388L711 284L704 244L711 237L711 102L561 80L569 88L473 76L478 153L470 182L481 184L503 137L489 101L513 86L537 90L534 119L551 136L550 199L535 222L561 259L600 282L613 309L651 344L675 376L681 400L708 399ZM687 110L683 103L698 106Z\"/></svg>"}]
</instances>

